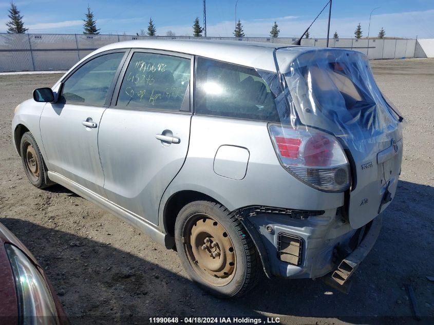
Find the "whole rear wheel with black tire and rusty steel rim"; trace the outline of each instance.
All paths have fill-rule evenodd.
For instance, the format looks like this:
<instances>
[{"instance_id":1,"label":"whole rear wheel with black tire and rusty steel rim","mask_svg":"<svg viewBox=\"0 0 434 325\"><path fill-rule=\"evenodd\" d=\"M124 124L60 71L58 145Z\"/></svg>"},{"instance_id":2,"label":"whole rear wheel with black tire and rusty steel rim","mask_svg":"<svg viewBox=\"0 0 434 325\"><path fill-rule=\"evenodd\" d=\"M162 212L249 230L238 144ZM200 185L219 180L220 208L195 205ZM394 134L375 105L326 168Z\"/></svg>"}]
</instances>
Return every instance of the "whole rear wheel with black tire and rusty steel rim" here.
<instances>
[{"instance_id":1,"label":"whole rear wheel with black tire and rusty steel rim","mask_svg":"<svg viewBox=\"0 0 434 325\"><path fill-rule=\"evenodd\" d=\"M256 284L260 261L241 222L220 204L184 206L175 223L181 263L193 281L219 297L241 296Z\"/></svg>"}]
</instances>

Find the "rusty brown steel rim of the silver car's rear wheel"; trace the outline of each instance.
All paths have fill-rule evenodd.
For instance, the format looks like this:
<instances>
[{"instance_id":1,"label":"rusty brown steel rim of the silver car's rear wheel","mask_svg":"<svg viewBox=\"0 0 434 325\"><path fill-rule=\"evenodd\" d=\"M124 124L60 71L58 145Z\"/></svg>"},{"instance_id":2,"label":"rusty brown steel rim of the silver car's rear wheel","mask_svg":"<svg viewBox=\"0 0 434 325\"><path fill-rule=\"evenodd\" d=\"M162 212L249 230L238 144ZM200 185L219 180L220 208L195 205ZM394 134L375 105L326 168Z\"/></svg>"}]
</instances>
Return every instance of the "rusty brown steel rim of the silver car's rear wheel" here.
<instances>
[{"instance_id":1,"label":"rusty brown steel rim of the silver car's rear wheel","mask_svg":"<svg viewBox=\"0 0 434 325\"><path fill-rule=\"evenodd\" d=\"M192 215L184 224L183 243L188 262L203 281L213 286L232 281L235 248L220 222L206 214Z\"/></svg>"}]
</instances>

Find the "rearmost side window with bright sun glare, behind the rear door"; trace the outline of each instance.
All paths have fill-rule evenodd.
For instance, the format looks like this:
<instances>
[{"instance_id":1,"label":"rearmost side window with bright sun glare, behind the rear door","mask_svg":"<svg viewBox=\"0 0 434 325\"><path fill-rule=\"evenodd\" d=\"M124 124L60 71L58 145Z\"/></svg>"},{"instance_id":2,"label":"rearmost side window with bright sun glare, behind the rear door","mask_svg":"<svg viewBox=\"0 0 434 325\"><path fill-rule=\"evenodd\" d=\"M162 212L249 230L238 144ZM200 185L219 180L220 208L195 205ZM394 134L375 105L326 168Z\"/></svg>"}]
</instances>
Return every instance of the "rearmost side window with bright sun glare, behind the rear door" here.
<instances>
[{"instance_id":1,"label":"rearmost side window with bright sun glare, behind the rear door","mask_svg":"<svg viewBox=\"0 0 434 325\"><path fill-rule=\"evenodd\" d=\"M198 58L195 111L198 114L278 122L274 95L253 68Z\"/></svg>"}]
</instances>

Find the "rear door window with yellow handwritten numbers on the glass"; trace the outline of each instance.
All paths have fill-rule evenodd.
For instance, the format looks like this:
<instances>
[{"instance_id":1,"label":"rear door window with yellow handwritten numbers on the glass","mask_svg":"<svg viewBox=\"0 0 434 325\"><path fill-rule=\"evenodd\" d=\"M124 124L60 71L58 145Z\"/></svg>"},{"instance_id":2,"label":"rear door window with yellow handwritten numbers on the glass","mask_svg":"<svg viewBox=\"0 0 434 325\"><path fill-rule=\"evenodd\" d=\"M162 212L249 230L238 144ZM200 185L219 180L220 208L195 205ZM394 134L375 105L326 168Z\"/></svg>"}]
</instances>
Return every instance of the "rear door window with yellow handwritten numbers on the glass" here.
<instances>
[{"instance_id":1,"label":"rear door window with yellow handwritten numbers on the glass","mask_svg":"<svg viewBox=\"0 0 434 325\"><path fill-rule=\"evenodd\" d=\"M189 84L190 59L136 52L126 69L116 105L180 110Z\"/></svg>"}]
</instances>

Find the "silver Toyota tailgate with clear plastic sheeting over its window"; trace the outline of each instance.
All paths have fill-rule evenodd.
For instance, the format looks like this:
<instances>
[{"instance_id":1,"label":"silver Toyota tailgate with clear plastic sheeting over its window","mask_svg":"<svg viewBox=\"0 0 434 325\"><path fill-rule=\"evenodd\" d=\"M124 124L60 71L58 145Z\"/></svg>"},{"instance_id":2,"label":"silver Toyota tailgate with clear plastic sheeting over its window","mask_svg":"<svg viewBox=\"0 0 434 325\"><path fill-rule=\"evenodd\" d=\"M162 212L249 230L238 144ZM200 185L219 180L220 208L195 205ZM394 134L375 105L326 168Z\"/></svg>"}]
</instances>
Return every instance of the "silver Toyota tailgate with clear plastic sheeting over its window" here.
<instances>
[{"instance_id":1,"label":"silver Toyota tailgate with clear plastic sheeting over its window","mask_svg":"<svg viewBox=\"0 0 434 325\"><path fill-rule=\"evenodd\" d=\"M402 117L376 85L366 55L343 49L276 53L289 93L282 124L313 127L341 140L351 160L346 211L353 228L392 200L402 162Z\"/></svg>"}]
</instances>

